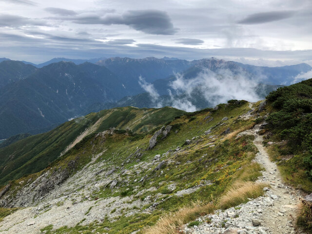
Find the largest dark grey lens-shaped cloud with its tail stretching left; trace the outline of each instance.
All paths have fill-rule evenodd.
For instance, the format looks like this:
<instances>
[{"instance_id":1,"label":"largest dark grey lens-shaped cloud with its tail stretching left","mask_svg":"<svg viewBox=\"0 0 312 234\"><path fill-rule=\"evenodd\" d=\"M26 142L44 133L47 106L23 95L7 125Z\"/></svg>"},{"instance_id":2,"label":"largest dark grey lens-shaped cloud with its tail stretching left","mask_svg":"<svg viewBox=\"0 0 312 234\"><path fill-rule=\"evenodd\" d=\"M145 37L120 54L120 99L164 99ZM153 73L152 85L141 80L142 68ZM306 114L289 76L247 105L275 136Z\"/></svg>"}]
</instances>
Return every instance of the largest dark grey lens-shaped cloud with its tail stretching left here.
<instances>
[{"instance_id":1,"label":"largest dark grey lens-shaped cloud with its tail stretching left","mask_svg":"<svg viewBox=\"0 0 312 234\"><path fill-rule=\"evenodd\" d=\"M174 35L177 31L168 14L158 10L127 11L122 15L110 14L104 17L95 13L85 13L73 21L80 24L124 24L137 31L156 35Z\"/></svg>"}]
</instances>

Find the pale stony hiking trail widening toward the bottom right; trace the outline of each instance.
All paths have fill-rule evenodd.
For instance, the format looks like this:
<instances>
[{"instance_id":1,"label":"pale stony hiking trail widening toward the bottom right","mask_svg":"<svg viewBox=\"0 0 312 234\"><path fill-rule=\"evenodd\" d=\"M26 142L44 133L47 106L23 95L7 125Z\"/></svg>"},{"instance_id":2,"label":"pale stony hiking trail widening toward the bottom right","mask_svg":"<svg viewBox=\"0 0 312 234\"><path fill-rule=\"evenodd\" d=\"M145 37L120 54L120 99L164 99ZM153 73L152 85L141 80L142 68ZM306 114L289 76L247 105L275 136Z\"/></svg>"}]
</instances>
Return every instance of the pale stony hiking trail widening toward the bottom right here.
<instances>
[{"instance_id":1,"label":"pale stony hiking trail widening toward the bottom right","mask_svg":"<svg viewBox=\"0 0 312 234\"><path fill-rule=\"evenodd\" d=\"M248 115L250 113L247 113ZM286 186L276 164L270 161L262 145L263 137L258 135L260 125L241 134L255 136L254 145L258 148L254 161L265 171L256 182L267 183L265 195L250 199L246 204L232 207L225 211L215 211L197 219L202 222L189 228L186 224L183 233L189 234L291 234L295 233L295 216L299 203L300 191Z\"/></svg>"}]
</instances>

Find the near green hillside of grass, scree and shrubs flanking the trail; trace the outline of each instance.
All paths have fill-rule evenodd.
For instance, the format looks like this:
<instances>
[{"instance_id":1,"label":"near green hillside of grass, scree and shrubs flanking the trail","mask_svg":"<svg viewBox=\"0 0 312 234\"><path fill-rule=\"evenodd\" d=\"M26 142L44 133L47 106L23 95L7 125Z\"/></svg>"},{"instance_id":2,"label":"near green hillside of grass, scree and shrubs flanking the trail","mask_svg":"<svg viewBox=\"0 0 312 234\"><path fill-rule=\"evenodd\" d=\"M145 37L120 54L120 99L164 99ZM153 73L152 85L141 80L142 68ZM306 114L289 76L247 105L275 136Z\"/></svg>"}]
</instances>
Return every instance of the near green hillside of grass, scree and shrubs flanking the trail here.
<instances>
[{"instance_id":1,"label":"near green hillside of grass, scree and shrubs flanking the trail","mask_svg":"<svg viewBox=\"0 0 312 234\"><path fill-rule=\"evenodd\" d=\"M230 100L194 113L125 107L71 120L0 150L8 184L0 214L35 207L32 220L47 224L42 233L175 233L270 187L253 183L263 168L252 161L257 138L246 131L256 124L284 182L311 193L311 94L312 79L277 89L266 103ZM47 223L62 210L70 210L70 225ZM306 230L309 214L298 218Z\"/></svg>"}]
</instances>

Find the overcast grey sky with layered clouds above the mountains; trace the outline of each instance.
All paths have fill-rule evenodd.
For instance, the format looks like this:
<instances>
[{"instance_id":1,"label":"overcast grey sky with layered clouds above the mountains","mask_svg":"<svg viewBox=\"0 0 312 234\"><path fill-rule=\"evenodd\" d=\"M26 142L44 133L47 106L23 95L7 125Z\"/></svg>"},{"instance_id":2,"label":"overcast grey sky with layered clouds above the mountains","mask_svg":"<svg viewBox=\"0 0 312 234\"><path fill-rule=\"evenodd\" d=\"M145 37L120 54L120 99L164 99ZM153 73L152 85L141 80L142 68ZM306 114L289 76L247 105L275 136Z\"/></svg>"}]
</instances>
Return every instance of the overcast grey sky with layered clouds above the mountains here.
<instances>
[{"instance_id":1,"label":"overcast grey sky with layered clouds above the mountains","mask_svg":"<svg viewBox=\"0 0 312 234\"><path fill-rule=\"evenodd\" d=\"M312 65L312 0L1 0L0 57Z\"/></svg>"}]
</instances>

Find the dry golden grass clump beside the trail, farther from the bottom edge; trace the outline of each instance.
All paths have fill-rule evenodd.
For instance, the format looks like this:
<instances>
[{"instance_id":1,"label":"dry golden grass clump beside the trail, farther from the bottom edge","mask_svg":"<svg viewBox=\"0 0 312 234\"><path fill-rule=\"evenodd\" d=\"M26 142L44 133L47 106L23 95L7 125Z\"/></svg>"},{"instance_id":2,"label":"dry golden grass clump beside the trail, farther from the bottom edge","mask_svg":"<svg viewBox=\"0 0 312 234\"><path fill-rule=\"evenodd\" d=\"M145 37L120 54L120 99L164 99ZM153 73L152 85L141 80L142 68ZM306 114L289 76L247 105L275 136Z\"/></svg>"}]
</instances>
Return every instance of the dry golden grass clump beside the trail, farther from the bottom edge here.
<instances>
[{"instance_id":1,"label":"dry golden grass clump beside the trail, farther from the bottom edge","mask_svg":"<svg viewBox=\"0 0 312 234\"><path fill-rule=\"evenodd\" d=\"M226 192L219 200L218 207L221 209L228 209L237 206L241 203L248 202L248 198L256 198L264 194L263 188L268 186L264 183L254 182L236 182L232 188Z\"/></svg>"}]
</instances>

